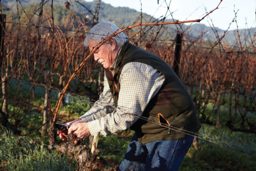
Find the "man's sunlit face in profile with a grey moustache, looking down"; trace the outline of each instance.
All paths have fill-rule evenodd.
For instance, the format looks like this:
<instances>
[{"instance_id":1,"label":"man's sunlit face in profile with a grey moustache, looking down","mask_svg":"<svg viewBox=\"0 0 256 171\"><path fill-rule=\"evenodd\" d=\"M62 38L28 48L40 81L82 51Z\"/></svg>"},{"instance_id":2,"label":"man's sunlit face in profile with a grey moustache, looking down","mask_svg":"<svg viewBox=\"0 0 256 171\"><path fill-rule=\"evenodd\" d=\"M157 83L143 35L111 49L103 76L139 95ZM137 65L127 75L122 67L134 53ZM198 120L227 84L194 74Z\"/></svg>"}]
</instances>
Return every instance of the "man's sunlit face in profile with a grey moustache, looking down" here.
<instances>
[{"instance_id":1,"label":"man's sunlit face in profile with a grey moustache, looking down","mask_svg":"<svg viewBox=\"0 0 256 171\"><path fill-rule=\"evenodd\" d=\"M93 47L95 47L98 43L92 40L88 44L90 51L92 51ZM104 68L109 69L111 67L115 60L115 56L113 56L110 43L101 45L101 47L94 52L94 60L102 64Z\"/></svg>"}]
</instances>

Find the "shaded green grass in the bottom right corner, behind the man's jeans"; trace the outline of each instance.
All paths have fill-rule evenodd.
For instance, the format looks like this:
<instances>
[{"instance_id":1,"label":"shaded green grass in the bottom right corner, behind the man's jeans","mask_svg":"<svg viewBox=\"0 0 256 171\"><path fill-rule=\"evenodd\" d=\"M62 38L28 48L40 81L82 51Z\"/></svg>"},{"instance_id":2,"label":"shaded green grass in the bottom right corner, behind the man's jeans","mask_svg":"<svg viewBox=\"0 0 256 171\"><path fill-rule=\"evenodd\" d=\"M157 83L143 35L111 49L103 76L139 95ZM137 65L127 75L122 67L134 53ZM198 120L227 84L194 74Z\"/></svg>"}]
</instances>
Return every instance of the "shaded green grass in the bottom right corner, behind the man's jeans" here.
<instances>
[{"instance_id":1,"label":"shaded green grass in the bottom right corner, behind the man's jeans","mask_svg":"<svg viewBox=\"0 0 256 171\"><path fill-rule=\"evenodd\" d=\"M227 128L202 125L199 134L212 137L235 146L219 146L204 140L199 140L199 149L193 146L189 149L180 167L181 171L226 171L226 170L256 170L256 136L232 132ZM233 147L233 148L231 148ZM242 148L240 148L242 147ZM253 155L247 154L243 148L254 151Z\"/></svg>"}]
</instances>

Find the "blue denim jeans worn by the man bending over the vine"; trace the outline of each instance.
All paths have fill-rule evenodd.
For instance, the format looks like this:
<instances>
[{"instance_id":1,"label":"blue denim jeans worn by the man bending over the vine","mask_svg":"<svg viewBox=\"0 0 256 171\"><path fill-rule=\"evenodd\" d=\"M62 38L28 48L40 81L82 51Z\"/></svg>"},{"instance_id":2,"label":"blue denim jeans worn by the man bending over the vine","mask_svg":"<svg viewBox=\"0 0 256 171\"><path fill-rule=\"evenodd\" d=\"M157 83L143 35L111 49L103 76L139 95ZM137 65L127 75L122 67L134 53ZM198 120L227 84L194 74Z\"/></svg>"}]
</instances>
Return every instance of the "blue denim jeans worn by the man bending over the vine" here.
<instances>
[{"instance_id":1,"label":"blue denim jeans worn by the man bending over the vine","mask_svg":"<svg viewBox=\"0 0 256 171\"><path fill-rule=\"evenodd\" d=\"M157 140L141 144L135 133L119 168L121 171L132 170L135 163L135 171L176 171L188 152L193 138L186 135L181 139Z\"/></svg>"}]
</instances>

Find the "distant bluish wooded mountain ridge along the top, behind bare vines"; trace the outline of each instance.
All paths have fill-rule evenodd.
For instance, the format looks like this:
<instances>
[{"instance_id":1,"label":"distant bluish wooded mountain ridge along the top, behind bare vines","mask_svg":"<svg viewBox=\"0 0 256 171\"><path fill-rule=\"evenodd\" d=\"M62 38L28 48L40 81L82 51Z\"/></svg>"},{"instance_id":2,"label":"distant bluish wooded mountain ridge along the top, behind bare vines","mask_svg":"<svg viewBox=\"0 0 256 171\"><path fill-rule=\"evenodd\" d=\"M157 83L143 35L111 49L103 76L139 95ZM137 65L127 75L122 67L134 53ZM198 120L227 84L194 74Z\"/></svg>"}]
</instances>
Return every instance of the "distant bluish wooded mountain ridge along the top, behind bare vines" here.
<instances>
[{"instance_id":1,"label":"distant bluish wooded mountain ridge along the top, behind bare vines","mask_svg":"<svg viewBox=\"0 0 256 171\"><path fill-rule=\"evenodd\" d=\"M27 6L27 5L31 5L31 4L36 4L36 3L40 3L41 0L20 0L22 6ZM66 0L58 0L54 1L54 5L57 6L65 6L65 2L67 2ZM70 2L70 1L69 1ZM86 2L84 0L79 1L80 3L82 3L83 5L85 5L88 9L90 10L94 10L97 6L98 0L94 0L92 2ZM51 2L48 2L49 4L51 4ZM71 3L74 3L74 1L71 1ZM12 8L15 9L16 6L16 0L2 0L1 4L3 5L3 8ZM19 4L19 1L18 1ZM74 5L74 4L73 4ZM58 7L60 8L60 7ZM56 9L57 10L57 9ZM55 10L55 11L56 11ZM79 7L79 10L85 14L85 15L90 15L90 13L83 8L82 6ZM64 8L62 8L62 10L57 10L60 11L61 14L65 13L64 12ZM66 12L67 13L67 12ZM116 25L118 26L129 26L132 25L133 22L140 17L140 12L134 10L134 9L130 9L128 7L113 7L110 4L101 2L101 6L100 6L100 11L99 11L99 22L100 21L111 21L114 22ZM57 14L58 17L54 17L57 19L61 19L62 17L60 16L60 14ZM143 22L148 22L149 19L151 18L150 15L143 13L143 17L144 17L144 21ZM55 20L57 21L57 20ZM165 22L168 21L172 21L170 19L165 20ZM188 28L189 27L189 28ZM179 28L179 26L178 26ZM183 25L182 28L185 30L187 29L189 32L189 34L191 34L194 38L197 38L201 35L201 31L204 32L204 38L205 40L210 39L210 40L216 40L216 36L212 31L212 28L209 26L206 26L204 24L201 23L192 23L192 25ZM219 28L215 28L217 33L219 34L219 37L221 37L225 30L219 29ZM177 32L176 26L175 25L168 25L168 31L167 32L173 32L175 31ZM245 30L245 29L240 29L238 30L240 32L240 35L244 35L245 31L249 31L250 35L254 35L255 33L255 28L251 28L249 30ZM233 32L233 33L232 33ZM244 37L243 37L244 38ZM234 30L229 30L226 33L225 39L229 42L229 43L237 43L237 37L234 36Z\"/></svg>"}]
</instances>

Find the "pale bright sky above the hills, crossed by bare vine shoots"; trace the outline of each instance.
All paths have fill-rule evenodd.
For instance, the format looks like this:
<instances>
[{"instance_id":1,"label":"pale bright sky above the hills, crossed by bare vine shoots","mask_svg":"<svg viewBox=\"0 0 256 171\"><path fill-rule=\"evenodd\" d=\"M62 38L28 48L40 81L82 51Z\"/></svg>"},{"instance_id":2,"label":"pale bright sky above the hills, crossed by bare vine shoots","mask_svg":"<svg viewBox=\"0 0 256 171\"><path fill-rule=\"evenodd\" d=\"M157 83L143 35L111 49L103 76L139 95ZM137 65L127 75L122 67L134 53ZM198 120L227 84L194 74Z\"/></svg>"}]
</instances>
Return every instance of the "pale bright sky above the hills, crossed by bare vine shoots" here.
<instances>
[{"instance_id":1,"label":"pale bright sky above the hills, crossed by bare vine shoots","mask_svg":"<svg viewBox=\"0 0 256 171\"><path fill-rule=\"evenodd\" d=\"M142 3L142 12L151 16L154 15L154 17L164 16L167 11L166 2L167 4L170 3L170 0L159 0L159 4L157 4L157 0L141 0L141 2L140 0L102 1L114 7L129 7L139 12ZM215 9L219 2L220 0L171 0L170 11L173 17L179 21L200 19L205 15L205 9L209 12ZM208 21L205 18L200 23L209 26L212 20L215 27L226 30L235 17L234 8L235 12L238 10L236 21L239 29L256 27L256 0L223 0L219 9L209 15ZM167 18L172 18L170 12L167 12L167 15L169 15ZM235 22L231 24L230 29L236 29Z\"/></svg>"}]
</instances>

